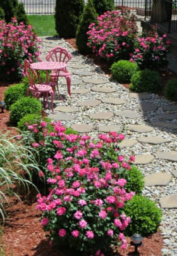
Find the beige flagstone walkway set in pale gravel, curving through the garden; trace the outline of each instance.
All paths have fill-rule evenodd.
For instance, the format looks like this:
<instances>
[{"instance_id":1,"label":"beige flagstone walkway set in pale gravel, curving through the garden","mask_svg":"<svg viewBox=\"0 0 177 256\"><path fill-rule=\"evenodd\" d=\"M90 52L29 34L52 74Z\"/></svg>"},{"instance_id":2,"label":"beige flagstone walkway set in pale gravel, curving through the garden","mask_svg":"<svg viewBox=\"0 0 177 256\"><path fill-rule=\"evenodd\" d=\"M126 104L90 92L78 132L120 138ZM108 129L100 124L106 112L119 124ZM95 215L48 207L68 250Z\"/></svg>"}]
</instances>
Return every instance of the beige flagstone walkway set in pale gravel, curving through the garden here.
<instances>
[{"instance_id":1,"label":"beige flagstone walkway set in pale gravel, curving through the garden","mask_svg":"<svg viewBox=\"0 0 177 256\"><path fill-rule=\"evenodd\" d=\"M61 79L64 101L56 96L49 117L93 137L109 131L125 134L119 146L125 155L135 153L135 165L145 176L143 195L162 208L162 255L177 255L177 105L155 94L131 93L63 39L43 37L41 58L56 45L72 54L72 98Z\"/></svg>"}]
</instances>

